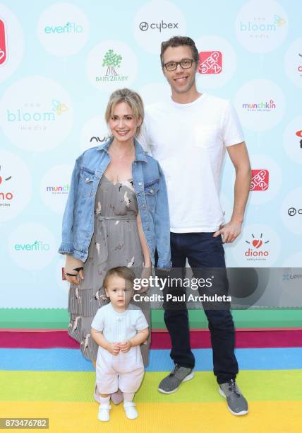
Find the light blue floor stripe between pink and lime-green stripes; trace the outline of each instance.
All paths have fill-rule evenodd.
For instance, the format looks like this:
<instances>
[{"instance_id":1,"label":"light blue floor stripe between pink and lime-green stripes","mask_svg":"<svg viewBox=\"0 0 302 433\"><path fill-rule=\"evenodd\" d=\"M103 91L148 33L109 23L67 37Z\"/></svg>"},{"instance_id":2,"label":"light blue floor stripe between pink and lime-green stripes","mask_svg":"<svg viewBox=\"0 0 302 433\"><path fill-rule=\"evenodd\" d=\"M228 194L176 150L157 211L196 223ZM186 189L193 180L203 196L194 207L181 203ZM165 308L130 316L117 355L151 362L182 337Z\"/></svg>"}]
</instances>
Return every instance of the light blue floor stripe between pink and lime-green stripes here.
<instances>
[{"instance_id":1,"label":"light blue floor stripe between pink and lime-green stripes","mask_svg":"<svg viewBox=\"0 0 302 433\"><path fill-rule=\"evenodd\" d=\"M169 350L151 350L146 371L169 371ZM195 349L195 370L212 370L212 349ZM302 369L302 347L236 349L241 370ZM1 370L94 371L76 349L0 349Z\"/></svg>"}]
</instances>

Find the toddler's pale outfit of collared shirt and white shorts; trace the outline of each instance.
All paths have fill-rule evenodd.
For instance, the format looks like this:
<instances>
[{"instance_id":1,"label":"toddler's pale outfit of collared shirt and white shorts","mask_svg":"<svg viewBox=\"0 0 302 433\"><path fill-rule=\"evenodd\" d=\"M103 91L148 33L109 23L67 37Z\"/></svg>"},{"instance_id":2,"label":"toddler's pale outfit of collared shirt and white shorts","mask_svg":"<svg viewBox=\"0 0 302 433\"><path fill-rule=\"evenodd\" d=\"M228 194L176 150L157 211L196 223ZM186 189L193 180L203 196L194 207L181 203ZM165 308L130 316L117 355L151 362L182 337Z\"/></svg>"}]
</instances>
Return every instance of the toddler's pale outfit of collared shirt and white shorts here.
<instances>
[{"instance_id":1,"label":"toddler's pale outfit of collared shirt and white shorts","mask_svg":"<svg viewBox=\"0 0 302 433\"><path fill-rule=\"evenodd\" d=\"M129 304L126 311L119 313L109 303L99 308L91 327L102 331L109 342L123 342L148 328L148 324L138 306ZM120 351L117 355L99 347L96 364L99 393L115 393L118 388L123 393L135 393L143 381L144 372L139 346L131 347L126 353Z\"/></svg>"}]
</instances>

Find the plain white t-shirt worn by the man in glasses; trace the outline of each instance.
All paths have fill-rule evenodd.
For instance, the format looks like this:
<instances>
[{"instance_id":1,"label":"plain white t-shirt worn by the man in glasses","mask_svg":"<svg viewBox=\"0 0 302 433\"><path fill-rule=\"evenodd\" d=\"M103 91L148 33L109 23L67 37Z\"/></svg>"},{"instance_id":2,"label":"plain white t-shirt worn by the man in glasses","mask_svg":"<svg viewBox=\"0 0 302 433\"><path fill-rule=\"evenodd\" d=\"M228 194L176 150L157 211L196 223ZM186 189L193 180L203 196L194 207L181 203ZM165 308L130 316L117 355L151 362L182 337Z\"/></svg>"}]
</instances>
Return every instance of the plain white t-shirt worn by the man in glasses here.
<instances>
[{"instance_id":1,"label":"plain white t-shirt worn by the man in glasses","mask_svg":"<svg viewBox=\"0 0 302 433\"><path fill-rule=\"evenodd\" d=\"M219 179L225 149L243 142L231 103L203 93L193 103L168 98L149 105L138 140L164 172L171 231L217 231L224 222Z\"/></svg>"}]
</instances>

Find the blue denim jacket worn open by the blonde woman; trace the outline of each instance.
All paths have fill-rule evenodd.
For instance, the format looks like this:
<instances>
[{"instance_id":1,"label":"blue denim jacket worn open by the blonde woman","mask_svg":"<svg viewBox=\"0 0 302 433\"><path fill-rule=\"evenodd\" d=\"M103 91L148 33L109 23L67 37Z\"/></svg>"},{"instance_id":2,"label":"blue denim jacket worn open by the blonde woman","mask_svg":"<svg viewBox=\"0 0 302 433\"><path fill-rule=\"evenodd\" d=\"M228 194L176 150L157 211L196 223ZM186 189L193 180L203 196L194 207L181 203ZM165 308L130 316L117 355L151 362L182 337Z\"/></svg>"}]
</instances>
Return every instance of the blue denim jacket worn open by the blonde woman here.
<instances>
[{"instance_id":1,"label":"blue denim jacket worn open by the blonde woman","mask_svg":"<svg viewBox=\"0 0 302 433\"><path fill-rule=\"evenodd\" d=\"M111 137L101 146L85 151L75 161L71 186L62 224L61 254L71 254L85 262L95 224L95 195L99 180L110 162L108 148ZM132 177L143 232L149 247L152 265L171 269L170 222L167 187L159 163L147 155L134 139L135 160L132 163Z\"/></svg>"}]
</instances>

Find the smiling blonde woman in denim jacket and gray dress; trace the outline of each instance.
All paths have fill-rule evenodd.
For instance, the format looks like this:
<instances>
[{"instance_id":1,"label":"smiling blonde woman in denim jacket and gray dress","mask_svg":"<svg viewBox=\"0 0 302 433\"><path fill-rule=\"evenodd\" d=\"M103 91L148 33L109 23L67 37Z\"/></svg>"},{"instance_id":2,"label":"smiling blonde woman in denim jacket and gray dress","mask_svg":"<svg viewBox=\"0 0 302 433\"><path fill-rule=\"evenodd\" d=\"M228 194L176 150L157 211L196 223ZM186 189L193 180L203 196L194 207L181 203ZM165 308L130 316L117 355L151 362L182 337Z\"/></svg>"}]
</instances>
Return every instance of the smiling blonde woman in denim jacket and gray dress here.
<instances>
[{"instance_id":1,"label":"smiling blonde woman in denim jacket and gray dress","mask_svg":"<svg viewBox=\"0 0 302 433\"><path fill-rule=\"evenodd\" d=\"M107 270L126 266L137 277L150 275L156 250L157 268L171 268L164 175L135 139L144 119L142 99L127 88L115 91L105 119L111 137L75 161L59 248L66 254L65 275L71 283L68 334L92 362L98 347L90 335L91 323L105 302L102 282ZM147 345L142 354L146 365Z\"/></svg>"}]
</instances>

